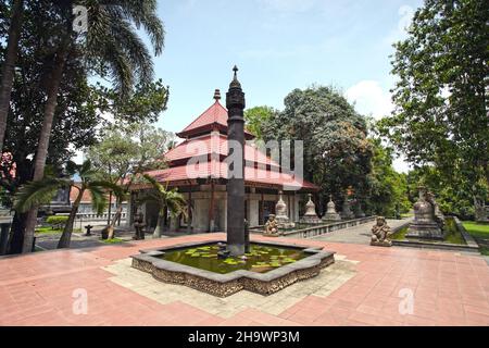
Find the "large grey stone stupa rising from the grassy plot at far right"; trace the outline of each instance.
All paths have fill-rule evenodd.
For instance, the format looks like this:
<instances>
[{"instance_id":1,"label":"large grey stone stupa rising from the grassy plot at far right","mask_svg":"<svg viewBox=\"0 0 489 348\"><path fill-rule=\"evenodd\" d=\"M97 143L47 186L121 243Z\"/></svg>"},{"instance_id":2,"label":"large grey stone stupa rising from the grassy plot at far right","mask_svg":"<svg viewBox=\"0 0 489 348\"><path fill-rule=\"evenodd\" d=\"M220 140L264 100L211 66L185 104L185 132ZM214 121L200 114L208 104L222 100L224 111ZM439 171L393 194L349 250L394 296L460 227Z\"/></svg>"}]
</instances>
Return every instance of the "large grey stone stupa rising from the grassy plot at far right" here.
<instances>
[{"instance_id":1,"label":"large grey stone stupa rising from the grassy plot at far right","mask_svg":"<svg viewBox=\"0 0 489 348\"><path fill-rule=\"evenodd\" d=\"M406 237L443 239L444 217L435 201L434 195L419 187L419 198L414 203L414 221Z\"/></svg>"}]
</instances>

